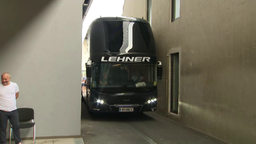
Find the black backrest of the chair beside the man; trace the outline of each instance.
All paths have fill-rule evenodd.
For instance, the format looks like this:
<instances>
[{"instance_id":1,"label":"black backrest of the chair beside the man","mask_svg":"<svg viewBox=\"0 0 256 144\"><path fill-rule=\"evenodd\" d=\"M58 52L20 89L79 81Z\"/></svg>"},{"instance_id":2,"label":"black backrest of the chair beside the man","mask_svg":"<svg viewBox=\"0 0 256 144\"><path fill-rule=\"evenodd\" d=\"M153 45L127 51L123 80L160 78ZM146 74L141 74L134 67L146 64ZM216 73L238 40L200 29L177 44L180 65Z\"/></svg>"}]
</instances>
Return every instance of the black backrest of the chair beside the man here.
<instances>
[{"instance_id":1,"label":"black backrest of the chair beside the man","mask_svg":"<svg viewBox=\"0 0 256 144\"><path fill-rule=\"evenodd\" d=\"M20 122L34 120L33 108L17 108L17 110L18 110Z\"/></svg>"}]
</instances>

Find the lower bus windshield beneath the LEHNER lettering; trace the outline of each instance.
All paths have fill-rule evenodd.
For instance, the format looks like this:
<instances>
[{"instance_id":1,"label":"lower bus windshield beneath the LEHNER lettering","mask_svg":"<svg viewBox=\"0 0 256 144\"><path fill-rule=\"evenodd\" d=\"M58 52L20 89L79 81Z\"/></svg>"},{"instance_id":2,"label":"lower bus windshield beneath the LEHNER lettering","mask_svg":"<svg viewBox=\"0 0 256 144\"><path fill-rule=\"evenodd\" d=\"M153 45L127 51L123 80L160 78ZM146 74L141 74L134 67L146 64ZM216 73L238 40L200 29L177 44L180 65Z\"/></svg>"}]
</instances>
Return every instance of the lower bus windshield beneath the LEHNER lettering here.
<instances>
[{"instance_id":1,"label":"lower bus windshield beneath the LEHNER lettering","mask_svg":"<svg viewBox=\"0 0 256 144\"><path fill-rule=\"evenodd\" d=\"M156 65L95 64L92 83L99 92L151 92L156 90Z\"/></svg>"}]
</instances>

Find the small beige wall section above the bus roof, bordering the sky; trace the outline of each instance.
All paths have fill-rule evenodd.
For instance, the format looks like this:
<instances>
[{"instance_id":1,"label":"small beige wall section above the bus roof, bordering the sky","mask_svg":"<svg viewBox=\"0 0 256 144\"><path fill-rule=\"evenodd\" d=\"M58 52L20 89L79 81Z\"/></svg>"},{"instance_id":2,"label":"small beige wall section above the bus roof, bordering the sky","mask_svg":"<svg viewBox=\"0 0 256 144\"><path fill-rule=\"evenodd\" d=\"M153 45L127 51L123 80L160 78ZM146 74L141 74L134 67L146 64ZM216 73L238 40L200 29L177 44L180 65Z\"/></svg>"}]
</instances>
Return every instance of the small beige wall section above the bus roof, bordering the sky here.
<instances>
[{"instance_id":1,"label":"small beige wall section above the bus roof, bordering the sky","mask_svg":"<svg viewBox=\"0 0 256 144\"><path fill-rule=\"evenodd\" d=\"M122 16L147 19L147 0L125 0Z\"/></svg>"}]
</instances>

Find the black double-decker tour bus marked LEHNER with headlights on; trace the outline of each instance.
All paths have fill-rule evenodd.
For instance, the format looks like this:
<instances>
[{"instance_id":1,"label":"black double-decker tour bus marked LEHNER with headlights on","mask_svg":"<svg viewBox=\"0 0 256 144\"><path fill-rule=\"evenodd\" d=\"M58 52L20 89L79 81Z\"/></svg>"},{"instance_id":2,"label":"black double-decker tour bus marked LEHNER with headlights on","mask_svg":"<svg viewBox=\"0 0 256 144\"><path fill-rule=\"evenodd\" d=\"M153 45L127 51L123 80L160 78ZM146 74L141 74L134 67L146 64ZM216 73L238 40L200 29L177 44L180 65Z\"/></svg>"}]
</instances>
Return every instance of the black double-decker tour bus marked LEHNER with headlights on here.
<instances>
[{"instance_id":1,"label":"black double-decker tour bus marked LEHNER with headlights on","mask_svg":"<svg viewBox=\"0 0 256 144\"><path fill-rule=\"evenodd\" d=\"M86 96L90 112L145 112L157 106L162 64L148 21L102 17L88 30Z\"/></svg>"}]
</instances>

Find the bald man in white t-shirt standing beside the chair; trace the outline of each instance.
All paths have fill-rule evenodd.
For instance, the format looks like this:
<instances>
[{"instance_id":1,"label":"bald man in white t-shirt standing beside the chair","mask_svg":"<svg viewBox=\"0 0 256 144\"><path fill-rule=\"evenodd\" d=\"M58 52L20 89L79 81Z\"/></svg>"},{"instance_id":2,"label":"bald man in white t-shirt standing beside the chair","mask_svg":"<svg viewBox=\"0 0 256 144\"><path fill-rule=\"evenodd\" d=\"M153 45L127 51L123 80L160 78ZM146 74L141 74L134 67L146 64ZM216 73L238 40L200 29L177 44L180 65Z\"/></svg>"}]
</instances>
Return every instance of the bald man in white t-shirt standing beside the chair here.
<instances>
[{"instance_id":1,"label":"bald man in white t-shirt standing beside the chair","mask_svg":"<svg viewBox=\"0 0 256 144\"><path fill-rule=\"evenodd\" d=\"M15 144L21 144L19 116L16 108L16 99L19 96L19 87L10 82L11 76L8 72L1 75L0 84L0 144L6 144L6 128L8 119L12 124Z\"/></svg>"}]
</instances>

